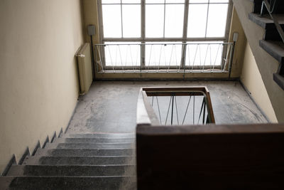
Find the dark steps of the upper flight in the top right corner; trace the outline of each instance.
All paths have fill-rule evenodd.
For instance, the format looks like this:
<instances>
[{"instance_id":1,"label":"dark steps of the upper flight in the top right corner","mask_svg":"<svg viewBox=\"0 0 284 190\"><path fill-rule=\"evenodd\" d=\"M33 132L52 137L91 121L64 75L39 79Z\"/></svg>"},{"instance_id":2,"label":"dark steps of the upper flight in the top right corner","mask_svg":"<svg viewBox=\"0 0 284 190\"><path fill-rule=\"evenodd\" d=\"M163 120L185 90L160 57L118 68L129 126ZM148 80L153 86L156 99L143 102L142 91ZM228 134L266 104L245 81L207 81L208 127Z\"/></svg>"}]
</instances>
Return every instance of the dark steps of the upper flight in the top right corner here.
<instances>
[{"instance_id":1,"label":"dark steps of the upper flight in the top right corner","mask_svg":"<svg viewBox=\"0 0 284 190\"><path fill-rule=\"evenodd\" d=\"M265 6L263 16L261 16L262 0L251 1L253 1L254 6L253 12L249 14L249 19L266 30L263 40L259 41L259 46L280 63L277 73L273 74L273 80L284 90L284 43ZM281 28L284 29L284 1L271 0L270 3L273 16L278 20Z\"/></svg>"}]
</instances>

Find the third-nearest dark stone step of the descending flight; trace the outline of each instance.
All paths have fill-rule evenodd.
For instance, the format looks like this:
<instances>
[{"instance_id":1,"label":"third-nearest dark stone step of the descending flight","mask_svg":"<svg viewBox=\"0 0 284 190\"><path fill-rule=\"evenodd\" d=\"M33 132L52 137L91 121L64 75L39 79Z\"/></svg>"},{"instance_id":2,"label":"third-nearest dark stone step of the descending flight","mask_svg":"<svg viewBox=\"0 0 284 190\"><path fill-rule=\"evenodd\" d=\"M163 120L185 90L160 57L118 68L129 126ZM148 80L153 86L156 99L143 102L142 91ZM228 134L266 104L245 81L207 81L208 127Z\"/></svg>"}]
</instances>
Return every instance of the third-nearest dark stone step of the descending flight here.
<instances>
[{"instance_id":1,"label":"third-nearest dark stone step of the descending flight","mask_svg":"<svg viewBox=\"0 0 284 190\"><path fill-rule=\"evenodd\" d=\"M24 165L114 165L136 164L136 157L26 157Z\"/></svg>"}]
</instances>

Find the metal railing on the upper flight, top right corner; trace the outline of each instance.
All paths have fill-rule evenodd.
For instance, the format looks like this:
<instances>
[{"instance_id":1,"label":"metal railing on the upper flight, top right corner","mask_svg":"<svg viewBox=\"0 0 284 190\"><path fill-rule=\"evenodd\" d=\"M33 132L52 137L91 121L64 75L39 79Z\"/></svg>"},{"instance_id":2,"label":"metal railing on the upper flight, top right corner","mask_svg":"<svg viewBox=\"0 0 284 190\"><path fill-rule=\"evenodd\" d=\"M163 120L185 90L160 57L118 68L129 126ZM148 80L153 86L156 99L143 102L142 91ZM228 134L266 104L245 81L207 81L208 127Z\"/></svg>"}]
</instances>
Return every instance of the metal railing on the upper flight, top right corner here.
<instances>
[{"instance_id":1,"label":"metal railing on the upper flight, top right corner","mask_svg":"<svg viewBox=\"0 0 284 190\"><path fill-rule=\"evenodd\" d=\"M280 26L280 24L278 22L278 19L275 16L273 16L273 11L275 9L277 0L271 0L271 2L273 2L273 6L271 6L271 4L269 4L269 2L267 0L263 0L262 1L261 16L264 15L264 7L266 7L266 9L268 11L268 14L271 16L271 19L273 20L273 22L275 24L275 27L276 27L278 33L280 34L280 37L282 38L282 41L284 43L284 31L281 28L281 26Z\"/></svg>"}]
</instances>

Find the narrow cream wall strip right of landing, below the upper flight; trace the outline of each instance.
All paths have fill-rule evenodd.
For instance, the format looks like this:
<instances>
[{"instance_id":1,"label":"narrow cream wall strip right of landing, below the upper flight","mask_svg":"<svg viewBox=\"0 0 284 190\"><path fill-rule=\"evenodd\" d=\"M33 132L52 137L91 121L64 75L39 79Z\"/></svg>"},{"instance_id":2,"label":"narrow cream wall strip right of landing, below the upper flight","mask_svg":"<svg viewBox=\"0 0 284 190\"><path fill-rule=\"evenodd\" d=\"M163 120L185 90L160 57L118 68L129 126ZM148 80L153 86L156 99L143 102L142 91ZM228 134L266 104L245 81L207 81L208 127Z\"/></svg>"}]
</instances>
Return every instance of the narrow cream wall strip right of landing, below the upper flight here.
<instances>
[{"instance_id":1,"label":"narrow cream wall strip right of landing, below the upper flight","mask_svg":"<svg viewBox=\"0 0 284 190\"><path fill-rule=\"evenodd\" d=\"M241 72L241 82L244 84L246 89L249 90L253 100L259 107L261 107L261 110L263 110L268 119L271 122L278 122L249 43L246 43L244 52L244 65Z\"/></svg>"}]
</instances>

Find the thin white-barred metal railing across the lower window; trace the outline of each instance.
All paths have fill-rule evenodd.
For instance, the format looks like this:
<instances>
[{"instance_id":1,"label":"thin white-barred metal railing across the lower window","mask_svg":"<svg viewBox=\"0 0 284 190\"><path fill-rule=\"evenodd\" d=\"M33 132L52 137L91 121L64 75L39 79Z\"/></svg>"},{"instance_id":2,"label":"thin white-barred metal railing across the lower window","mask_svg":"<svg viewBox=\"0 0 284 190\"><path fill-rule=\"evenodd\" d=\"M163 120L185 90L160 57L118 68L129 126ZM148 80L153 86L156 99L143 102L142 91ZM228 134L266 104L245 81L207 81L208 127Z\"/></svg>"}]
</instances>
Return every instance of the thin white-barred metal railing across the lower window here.
<instances>
[{"instance_id":1,"label":"thin white-barred metal railing across the lower window","mask_svg":"<svg viewBox=\"0 0 284 190\"><path fill-rule=\"evenodd\" d=\"M94 45L97 73L229 73L234 43Z\"/></svg>"}]
</instances>

